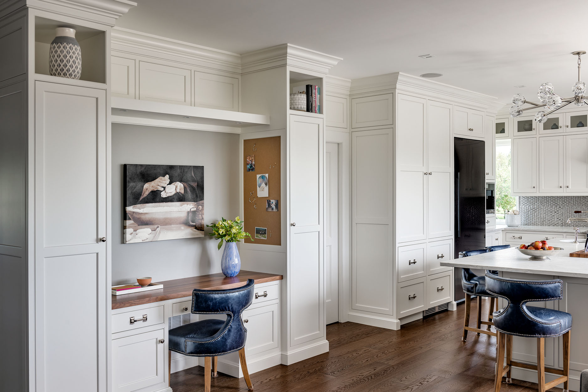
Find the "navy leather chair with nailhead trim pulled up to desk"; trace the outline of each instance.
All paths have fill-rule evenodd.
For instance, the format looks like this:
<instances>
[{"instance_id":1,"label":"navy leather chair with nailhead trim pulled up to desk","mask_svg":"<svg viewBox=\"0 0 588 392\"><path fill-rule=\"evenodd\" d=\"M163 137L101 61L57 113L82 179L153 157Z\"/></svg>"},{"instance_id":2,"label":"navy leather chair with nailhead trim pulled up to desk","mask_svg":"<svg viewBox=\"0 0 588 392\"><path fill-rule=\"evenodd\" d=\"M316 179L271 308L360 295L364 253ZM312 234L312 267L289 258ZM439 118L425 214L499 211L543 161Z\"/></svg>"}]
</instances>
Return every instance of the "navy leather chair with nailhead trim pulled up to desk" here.
<instances>
[{"instance_id":1,"label":"navy leather chair with nailhead trim pulled up to desk","mask_svg":"<svg viewBox=\"0 0 588 392\"><path fill-rule=\"evenodd\" d=\"M211 390L211 373L216 377L217 357L235 351L239 351L245 383L249 390L253 390L245 361L247 329L241 315L253 301L254 283L253 279L248 279L245 286L236 289L194 289L192 313L226 314L226 320L205 319L169 330L170 357L171 351L186 356L204 357L205 392Z\"/></svg>"}]
</instances>

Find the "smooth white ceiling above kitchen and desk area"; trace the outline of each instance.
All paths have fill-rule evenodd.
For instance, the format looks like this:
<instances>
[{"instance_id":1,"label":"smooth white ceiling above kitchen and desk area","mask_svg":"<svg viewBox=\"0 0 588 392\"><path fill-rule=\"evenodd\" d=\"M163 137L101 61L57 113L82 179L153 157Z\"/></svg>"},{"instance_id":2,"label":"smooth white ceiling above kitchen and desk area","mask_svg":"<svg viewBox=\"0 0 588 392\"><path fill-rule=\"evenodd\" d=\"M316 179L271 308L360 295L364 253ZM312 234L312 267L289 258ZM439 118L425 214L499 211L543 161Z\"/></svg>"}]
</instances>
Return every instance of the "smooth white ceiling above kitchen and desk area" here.
<instances>
[{"instance_id":1,"label":"smooth white ceiling above kitchen and desk area","mask_svg":"<svg viewBox=\"0 0 588 392\"><path fill-rule=\"evenodd\" d=\"M117 26L234 53L292 43L343 58L330 73L348 79L439 72L505 103L517 92L536 101L548 81L571 96L569 53L588 50L585 0L135 1ZM585 69L588 82L588 55Z\"/></svg>"}]
</instances>

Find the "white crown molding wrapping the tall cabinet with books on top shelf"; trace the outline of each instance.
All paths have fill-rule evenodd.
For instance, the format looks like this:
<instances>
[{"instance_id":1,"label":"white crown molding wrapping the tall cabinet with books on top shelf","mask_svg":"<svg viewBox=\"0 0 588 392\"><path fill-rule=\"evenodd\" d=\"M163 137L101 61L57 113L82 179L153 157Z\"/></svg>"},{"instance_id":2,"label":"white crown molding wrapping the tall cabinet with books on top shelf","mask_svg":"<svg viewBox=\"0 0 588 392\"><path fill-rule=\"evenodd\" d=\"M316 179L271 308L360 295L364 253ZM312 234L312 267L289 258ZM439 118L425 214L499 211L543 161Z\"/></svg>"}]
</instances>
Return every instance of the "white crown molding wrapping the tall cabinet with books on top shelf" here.
<instances>
[{"instance_id":1,"label":"white crown molding wrapping the tall cabinet with books on top shelf","mask_svg":"<svg viewBox=\"0 0 588 392\"><path fill-rule=\"evenodd\" d=\"M241 55L242 73L290 65L310 72L326 74L342 58L312 51L290 43L271 46Z\"/></svg>"}]
</instances>

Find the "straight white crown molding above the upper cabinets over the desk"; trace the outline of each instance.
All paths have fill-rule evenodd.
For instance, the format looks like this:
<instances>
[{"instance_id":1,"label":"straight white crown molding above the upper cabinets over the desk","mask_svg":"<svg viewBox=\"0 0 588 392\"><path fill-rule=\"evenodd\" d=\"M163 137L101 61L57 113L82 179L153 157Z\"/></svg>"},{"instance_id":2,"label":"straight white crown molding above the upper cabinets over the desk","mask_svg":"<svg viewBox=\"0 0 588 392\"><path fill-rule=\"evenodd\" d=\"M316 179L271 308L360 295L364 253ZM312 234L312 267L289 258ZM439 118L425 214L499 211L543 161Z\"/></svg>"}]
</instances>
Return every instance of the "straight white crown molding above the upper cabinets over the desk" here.
<instances>
[{"instance_id":1,"label":"straight white crown molding above the upper cabinets over the desk","mask_svg":"<svg viewBox=\"0 0 588 392\"><path fill-rule=\"evenodd\" d=\"M113 51L175 60L228 72L241 72L241 58L237 53L120 27L112 29L111 45Z\"/></svg>"}]
</instances>

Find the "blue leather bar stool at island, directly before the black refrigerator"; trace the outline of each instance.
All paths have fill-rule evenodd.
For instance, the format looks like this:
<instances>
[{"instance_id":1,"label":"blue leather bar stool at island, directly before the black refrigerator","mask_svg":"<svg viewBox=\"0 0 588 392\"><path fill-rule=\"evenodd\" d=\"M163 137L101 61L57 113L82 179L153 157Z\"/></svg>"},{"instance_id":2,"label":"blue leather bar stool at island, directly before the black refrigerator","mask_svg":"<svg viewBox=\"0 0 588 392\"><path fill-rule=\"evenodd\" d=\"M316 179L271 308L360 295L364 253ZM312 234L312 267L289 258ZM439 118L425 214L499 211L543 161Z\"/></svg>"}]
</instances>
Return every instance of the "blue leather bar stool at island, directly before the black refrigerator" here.
<instances>
[{"instance_id":1,"label":"blue leather bar stool at island, directly before the black refrigerator","mask_svg":"<svg viewBox=\"0 0 588 392\"><path fill-rule=\"evenodd\" d=\"M459 258L475 256L476 254L483 254L490 252L489 249L478 249L478 250L465 250L459 252ZM492 321L482 321L482 297L489 297L494 299L492 294L486 292L486 279L483 276L477 276L469 268L462 268L462 289L466 293L466 312L463 320L463 337L462 340L466 341L467 331L473 331L477 334L484 333L491 336L496 336L496 333L490 331ZM472 308L472 296L477 297L477 323L476 328L470 327L470 311ZM493 302L490 304L490 309L494 306ZM483 330L482 324L488 326L487 330Z\"/></svg>"}]
</instances>

